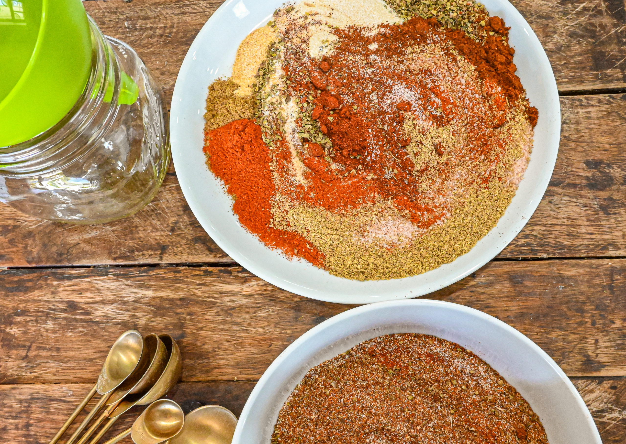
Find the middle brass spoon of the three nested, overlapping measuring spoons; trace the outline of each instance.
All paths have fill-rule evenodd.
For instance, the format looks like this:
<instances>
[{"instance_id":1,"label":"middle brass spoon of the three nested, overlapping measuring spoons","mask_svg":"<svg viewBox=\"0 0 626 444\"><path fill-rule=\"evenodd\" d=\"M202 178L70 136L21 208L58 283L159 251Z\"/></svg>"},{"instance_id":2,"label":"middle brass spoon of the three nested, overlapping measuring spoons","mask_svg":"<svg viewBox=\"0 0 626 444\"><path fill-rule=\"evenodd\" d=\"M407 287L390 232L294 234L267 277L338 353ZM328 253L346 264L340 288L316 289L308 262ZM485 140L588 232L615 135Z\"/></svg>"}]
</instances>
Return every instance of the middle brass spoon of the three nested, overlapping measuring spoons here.
<instances>
[{"instance_id":1,"label":"middle brass spoon of the three nested, overlapping measuring spoons","mask_svg":"<svg viewBox=\"0 0 626 444\"><path fill-rule=\"evenodd\" d=\"M93 432L106 420L106 417L111 414L111 411L115 410L125 396L131 393L149 390L151 386L156 383L159 376L161 376L163 370L165 370L165 365L167 364L167 347L163 341L154 333L145 336L143 340L146 344L145 364L138 365L137 371L126 378L126 380L113 391L113 394L108 401L106 401L108 407L85 432L85 435L81 436L76 444L84 444L90 436L93 435Z\"/></svg>"}]
</instances>

